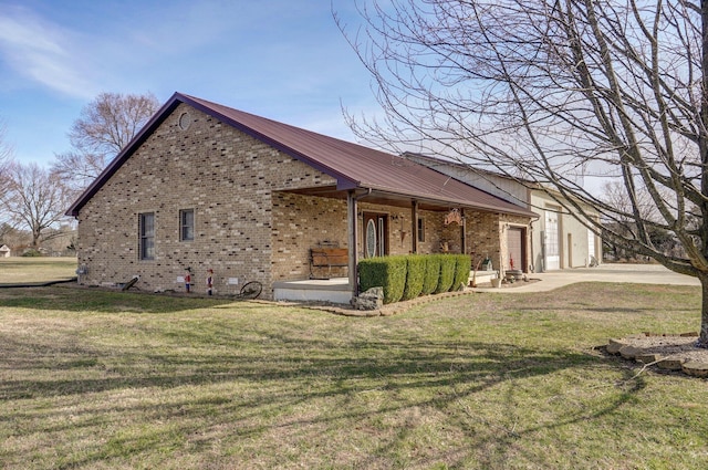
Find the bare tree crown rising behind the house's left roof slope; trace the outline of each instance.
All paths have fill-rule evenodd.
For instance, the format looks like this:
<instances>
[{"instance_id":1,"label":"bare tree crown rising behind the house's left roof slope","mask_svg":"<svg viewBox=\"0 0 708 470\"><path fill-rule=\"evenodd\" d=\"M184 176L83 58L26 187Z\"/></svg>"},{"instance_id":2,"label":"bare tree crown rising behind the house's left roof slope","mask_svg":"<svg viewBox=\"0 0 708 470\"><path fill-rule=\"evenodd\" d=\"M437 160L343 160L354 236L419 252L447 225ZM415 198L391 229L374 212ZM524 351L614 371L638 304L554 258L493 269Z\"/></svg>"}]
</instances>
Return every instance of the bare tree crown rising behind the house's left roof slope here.
<instances>
[{"instance_id":1,"label":"bare tree crown rising behind the house's left roof slope","mask_svg":"<svg viewBox=\"0 0 708 470\"><path fill-rule=\"evenodd\" d=\"M159 108L152 93L102 93L88 103L69 133L73 150L58 154L52 173L82 190L103 171Z\"/></svg>"}]
</instances>

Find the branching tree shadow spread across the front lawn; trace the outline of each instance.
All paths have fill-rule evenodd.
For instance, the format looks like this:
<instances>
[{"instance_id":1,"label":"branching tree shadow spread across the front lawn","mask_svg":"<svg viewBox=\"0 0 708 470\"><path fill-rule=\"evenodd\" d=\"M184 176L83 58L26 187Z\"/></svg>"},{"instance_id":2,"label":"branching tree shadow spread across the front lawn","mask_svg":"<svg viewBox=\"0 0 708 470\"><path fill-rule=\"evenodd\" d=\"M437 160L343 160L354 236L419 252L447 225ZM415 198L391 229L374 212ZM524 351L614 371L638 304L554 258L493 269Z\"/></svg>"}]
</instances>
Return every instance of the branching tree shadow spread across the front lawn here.
<instances>
[{"instance_id":1,"label":"branching tree shadow spread across the front lawn","mask_svg":"<svg viewBox=\"0 0 708 470\"><path fill-rule=\"evenodd\" d=\"M262 332L240 334L243 333ZM376 422L381 416L405 416L412 408L433 408L449 414L450 409L461 408L469 397L483 396L489 389L507 382L549 376L575 367L591 372L604 364L596 357L576 352L544 352L513 344L490 345L480 342L458 342L455 345L354 342L344 347L326 340L288 338L283 344L279 338L271 337L270 342L279 343L279 346L263 345L256 351L250 347L241 351L235 338L232 347L218 353L206 351L208 344L205 343L197 354L177 354L150 347L139 351L76 348L71 354L64 353L63 357L58 357L56 351L41 344L24 344L21 347L34 354L34 363L25 357L23 361L1 361L0 364L15 372L22 372L22 367L38 367L39 364L55 373L50 379L2 380L0 398L3 401L83 401L83 397L95 400L101 394L108 393L101 403L90 405L83 411L97 414L95 417L79 417L77 420L88 427L96 426L96 419L108 419L108 416L115 420L123 417L131 422L158 420L173 424L146 429L145 432L152 437L142 436L139 439L129 434L122 437L121 432L113 432L107 443L96 443L87 449L88 452L73 456L71 466L81 467L106 458L121 459L143 452L149 455L160 445L168 446L176 435L192 436L195 428L204 426L209 429L232 429L230 432L236 434L238 439L251 440L260 439L280 427L339 428L345 432L362 422ZM92 372L107 376L81 378ZM178 393L184 390L183 387L190 390L188 395ZM477 446L512 446L524 435L531 436L542 427L550 429L592 421L615 412L625 403L633 401L642 387L643 383L635 380L633 387L616 394L601 408L582 414L568 410L556 421L538 427L519 430L500 428L488 437L480 436L469 422L486 428L494 425L483 421L473 410L466 411L466 416L460 416L458 411L454 419L458 422L450 422L450 426L470 434L469 438L475 439ZM176 395L173 397L170 391ZM143 398L112 403L112 396L123 394L142 395ZM372 394L383 398L369 401ZM154 396L166 398L158 400ZM331 405L333 401L335 406ZM513 406L512 400L509 406ZM313 407L319 411L296 411L311 410ZM46 412L51 415L52 411ZM73 411L74 415L80 412ZM35 419L33 415L32 410L27 416L15 412L13 419ZM58 435L75 431L76 417L62 419L63 411L60 409L55 410L55 415L54 418L45 417L52 428L43 431ZM395 448L405 446L409 431L403 425L398 436L376 440L378 456L394 455ZM119 429L124 425L113 422L110 426ZM225 437L214 438L220 440ZM327 438L323 436L322 439ZM210 448L205 442L201 446ZM361 456L363 460L358 462L360 467L367 467L367 458ZM490 468L494 468L491 463Z\"/></svg>"}]
</instances>

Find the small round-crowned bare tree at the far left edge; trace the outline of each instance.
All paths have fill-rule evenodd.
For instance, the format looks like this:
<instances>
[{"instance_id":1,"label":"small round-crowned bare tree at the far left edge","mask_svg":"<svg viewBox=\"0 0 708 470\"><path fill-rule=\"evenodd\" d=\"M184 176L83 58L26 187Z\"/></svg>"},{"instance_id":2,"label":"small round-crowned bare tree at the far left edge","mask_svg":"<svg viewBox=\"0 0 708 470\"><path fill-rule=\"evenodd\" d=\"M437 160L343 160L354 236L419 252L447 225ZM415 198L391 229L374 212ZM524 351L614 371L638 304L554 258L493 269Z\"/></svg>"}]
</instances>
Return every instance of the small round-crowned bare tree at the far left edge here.
<instances>
[{"instance_id":1,"label":"small round-crowned bare tree at the far left edge","mask_svg":"<svg viewBox=\"0 0 708 470\"><path fill-rule=\"evenodd\" d=\"M56 176L37 164L13 164L8 190L0 201L14 227L32 232L32 247L40 248L48 229L56 226L66 209L65 188Z\"/></svg>"}]
</instances>

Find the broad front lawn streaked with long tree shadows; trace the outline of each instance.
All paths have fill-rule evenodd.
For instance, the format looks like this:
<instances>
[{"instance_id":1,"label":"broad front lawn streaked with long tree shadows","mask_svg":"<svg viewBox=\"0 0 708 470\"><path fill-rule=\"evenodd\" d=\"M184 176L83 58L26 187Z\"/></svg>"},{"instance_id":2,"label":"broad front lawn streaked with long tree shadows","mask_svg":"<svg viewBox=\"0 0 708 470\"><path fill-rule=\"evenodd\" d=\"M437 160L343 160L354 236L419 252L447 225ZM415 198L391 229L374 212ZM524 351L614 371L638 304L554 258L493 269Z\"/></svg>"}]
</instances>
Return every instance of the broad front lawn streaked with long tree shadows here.
<instances>
[{"instance_id":1,"label":"broad front lawn streaked with long tree shadows","mask_svg":"<svg viewBox=\"0 0 708 470\"><path fill-rule=\"evenodd\" d=\"M2 289L0 468L706 468L707 382L594 349L696 331L699 294L575 284L354 318Z\"/></svg>"}]
</instances>

